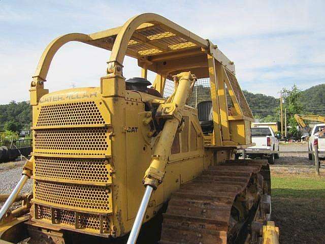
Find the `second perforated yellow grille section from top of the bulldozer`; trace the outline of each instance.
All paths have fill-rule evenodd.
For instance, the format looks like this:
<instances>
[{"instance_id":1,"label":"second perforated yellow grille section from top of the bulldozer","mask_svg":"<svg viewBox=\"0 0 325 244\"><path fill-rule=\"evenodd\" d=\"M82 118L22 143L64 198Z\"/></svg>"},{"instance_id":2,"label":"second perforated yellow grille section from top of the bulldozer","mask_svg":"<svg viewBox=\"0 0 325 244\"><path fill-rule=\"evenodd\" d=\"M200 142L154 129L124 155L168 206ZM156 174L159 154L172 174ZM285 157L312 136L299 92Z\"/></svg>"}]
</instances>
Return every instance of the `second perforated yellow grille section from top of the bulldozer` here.
<instances>
[{"instance_id":1,"label":"second perforated yellow grille section from top of the bulldozer","mask_svg":"<svg viewBox=\"0 0 325 244\"><path fill-rule=\"evenodd\" d=\"M104 155L109 146L108 133L108 129L96 128L35 130L34 151L44 154Z\"/></svg>"}]
</instances>

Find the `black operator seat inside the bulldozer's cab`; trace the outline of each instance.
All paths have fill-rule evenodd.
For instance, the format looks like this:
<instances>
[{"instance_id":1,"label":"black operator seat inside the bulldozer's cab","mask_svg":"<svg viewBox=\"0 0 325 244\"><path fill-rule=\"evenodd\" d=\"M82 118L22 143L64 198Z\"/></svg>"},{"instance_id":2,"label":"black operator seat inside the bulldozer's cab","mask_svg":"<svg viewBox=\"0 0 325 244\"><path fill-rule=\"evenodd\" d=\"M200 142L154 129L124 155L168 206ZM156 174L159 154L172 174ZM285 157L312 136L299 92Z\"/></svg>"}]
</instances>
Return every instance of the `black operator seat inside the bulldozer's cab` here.
<instances>
[{"instance_id":1,"label":"black operator seat inside the bulldozer's cab","mask_svg":"<svg viewBox=\"0 0 325 244\"><path fill-rule=\"evenodd\" d=\"M199 123L204 134L213 132L212 102L203 101L198 103Z\"/></svg>"}]
</instances>

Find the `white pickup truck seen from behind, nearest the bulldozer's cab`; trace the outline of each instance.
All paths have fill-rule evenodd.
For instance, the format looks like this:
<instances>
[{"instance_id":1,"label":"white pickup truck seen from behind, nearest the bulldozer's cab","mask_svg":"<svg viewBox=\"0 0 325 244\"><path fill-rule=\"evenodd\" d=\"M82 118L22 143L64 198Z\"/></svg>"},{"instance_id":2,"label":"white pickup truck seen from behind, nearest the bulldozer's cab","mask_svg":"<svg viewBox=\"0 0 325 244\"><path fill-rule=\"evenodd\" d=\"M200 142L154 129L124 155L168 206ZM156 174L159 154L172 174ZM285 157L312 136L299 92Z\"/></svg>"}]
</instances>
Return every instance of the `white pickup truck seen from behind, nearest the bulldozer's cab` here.
<instances>
[{"instance_id":1,"label":"white pickup truck seen from behind, nearest the bulldozer's cab","mask_svg":"<svg viewBox=\"0 0 325 244\"><path fill-rule=\"evenodd\" d=\"M275 159L279 158L279 154L250 154L252 150L270 150L279 151L279 140L271 127L269 126L254 126L251 128L252 142L255 146L248 147L246 149L246 155L249 158L267 158L269 164L274 164Z\"/></svg>"}]
</instances>

